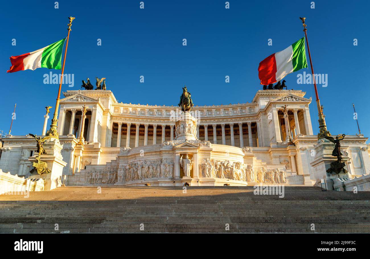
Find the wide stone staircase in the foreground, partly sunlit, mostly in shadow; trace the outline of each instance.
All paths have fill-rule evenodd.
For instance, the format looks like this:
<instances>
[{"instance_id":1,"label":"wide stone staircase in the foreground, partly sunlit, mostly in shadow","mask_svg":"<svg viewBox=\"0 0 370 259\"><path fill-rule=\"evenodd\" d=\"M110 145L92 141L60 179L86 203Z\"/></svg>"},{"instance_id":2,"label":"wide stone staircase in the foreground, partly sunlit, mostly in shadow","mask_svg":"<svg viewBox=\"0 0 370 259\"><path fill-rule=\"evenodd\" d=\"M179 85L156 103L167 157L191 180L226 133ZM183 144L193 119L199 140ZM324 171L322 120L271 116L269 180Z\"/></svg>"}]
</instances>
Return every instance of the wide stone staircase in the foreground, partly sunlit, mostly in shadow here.
<instances>
[{"instance_id":1,"label":"wide stone staircase in the foreground, partly sunlit, mostly in shadow","mask_svg":"<svg viewBox=\"0 0 370 259\"><path fill-rule=\"evenodd\" d=\"M101 193L97 187L60 187L29 192L28 198L0 195L0 233L370 232L370 192L285 187L279 198L253 190L108 186Z\"/></svg>"}]
</instances>

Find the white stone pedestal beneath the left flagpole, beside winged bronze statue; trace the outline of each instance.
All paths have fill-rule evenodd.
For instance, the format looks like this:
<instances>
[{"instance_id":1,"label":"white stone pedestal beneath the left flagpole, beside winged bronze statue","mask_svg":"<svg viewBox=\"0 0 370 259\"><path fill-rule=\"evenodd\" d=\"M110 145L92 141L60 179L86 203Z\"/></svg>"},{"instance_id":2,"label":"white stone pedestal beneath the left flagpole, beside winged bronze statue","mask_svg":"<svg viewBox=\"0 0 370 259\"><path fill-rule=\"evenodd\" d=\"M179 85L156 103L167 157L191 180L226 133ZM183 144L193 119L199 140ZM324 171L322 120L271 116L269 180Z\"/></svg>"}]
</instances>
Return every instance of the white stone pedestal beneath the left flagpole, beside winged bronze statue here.
<instances>
[{"instance_id":1,"label":"white stone pedestal beneath the left flagpole, beside winged bronze statue","mask_svg":"<svg viewBox=\"0 0 370 259\"><path fill-rule=\"evenodd\" d=\"M41 161L47 163L47 167L51 170L50 174L33 174L28 178L30 179L44 179L44 190L49 191L61 186L61 176L63 174L63 168L67 165L63 161L63 157L60 153L62 149L58 139L51 139L45 142L44 149L47 154L41 155ZM28 160L34 161L36 156L30 157Z\"/></svg>"}]
</instances>

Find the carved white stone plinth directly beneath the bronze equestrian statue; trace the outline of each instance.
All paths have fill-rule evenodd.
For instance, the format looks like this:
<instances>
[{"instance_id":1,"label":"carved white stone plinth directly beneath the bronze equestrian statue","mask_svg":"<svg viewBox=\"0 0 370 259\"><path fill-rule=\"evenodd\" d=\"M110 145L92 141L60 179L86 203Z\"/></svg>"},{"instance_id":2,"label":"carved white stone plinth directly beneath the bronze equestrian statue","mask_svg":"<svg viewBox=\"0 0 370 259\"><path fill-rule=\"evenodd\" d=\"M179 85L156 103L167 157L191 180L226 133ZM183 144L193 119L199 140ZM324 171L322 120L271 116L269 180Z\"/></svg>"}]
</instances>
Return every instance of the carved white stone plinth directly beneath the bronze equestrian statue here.
<instances>
[{"instance_id":1,"label":"carved white stone plinth directly beneath the bronze equestrian statue","mask_svg":"<svg viewBox=\"0 0 370 259\"><path fill-rule=\"evenodd\" d=\"M176 121L176 140L195 140L196 138L196 119L189 113L181 113Z\"/></svg>"}]
</instances>

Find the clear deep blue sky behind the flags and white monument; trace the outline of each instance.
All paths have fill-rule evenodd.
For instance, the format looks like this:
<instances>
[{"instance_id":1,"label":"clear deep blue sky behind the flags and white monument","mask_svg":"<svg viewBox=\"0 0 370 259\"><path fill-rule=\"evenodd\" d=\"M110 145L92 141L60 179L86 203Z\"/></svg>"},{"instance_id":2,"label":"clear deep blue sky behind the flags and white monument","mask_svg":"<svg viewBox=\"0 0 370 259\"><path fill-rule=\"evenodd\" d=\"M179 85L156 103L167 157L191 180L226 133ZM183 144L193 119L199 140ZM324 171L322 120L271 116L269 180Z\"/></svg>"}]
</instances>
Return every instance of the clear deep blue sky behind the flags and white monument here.
<instances>
[{"instance_id":1,"label":"clear deep blue sky behind the flags and white monument","mask_svg":"<svg viewBox=\"0 0 370 259\"><path fill-rule=\"evenodd\" d=\"M0 40L0 130L41 134L45 106L53 106L58 85L44 84L44 74L58 70L6 73L9 57L45 47L67 36L68 16L74 16L65 73L74 74L74 87L95 76L107 78L107 89L120 102L177 105L186 84L195 105L251 102L259 85L258 64L304 36L306 17L314 71L327 74L327 87L318 85L332 134L355 134L352 103L361 133L369 128L369 1L6 1ZM97 39L101 39L101 46ZM182 45L186 38L187 45ZM358 45L353 45L357 39ZM16 45L12 45L16 39ZM272 39L272 45L268 45ZM307 54L308 55L308 54ZM307 57L308 59L308 57ZM288 89L313 97L314 133L318 132L312 85L298 85L297 74L286 76ZM140 76L144 83L140 83ZM225 76L230 83L225 83ZM40 98L40 96L43 96ZM62 96L63 97L63 96ZM50 124L50 120L49 120Z\"/></svg>"}]
</instances>

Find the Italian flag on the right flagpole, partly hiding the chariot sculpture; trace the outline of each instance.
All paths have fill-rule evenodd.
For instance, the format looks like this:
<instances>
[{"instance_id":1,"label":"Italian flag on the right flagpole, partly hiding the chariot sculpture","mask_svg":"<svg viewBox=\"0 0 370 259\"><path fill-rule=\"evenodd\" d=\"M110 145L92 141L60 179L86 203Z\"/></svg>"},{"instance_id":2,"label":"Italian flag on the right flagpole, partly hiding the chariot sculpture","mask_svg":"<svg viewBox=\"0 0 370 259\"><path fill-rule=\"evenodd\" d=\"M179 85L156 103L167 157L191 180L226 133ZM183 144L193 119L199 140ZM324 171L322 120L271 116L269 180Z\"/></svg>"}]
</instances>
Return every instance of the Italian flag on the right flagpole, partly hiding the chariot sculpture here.
<instances>
[{"instance_id":1,"label":"Italian flag on the right flagpole, partly hiding the chariot sculpture","mask_svg":"<svg viewBox=\"0 0 370 259\"><path fill-rule=\"evenodd\" d=\"M261 85L269 85L287 74L307 67L305 38L294 42L283 51L276 52L259 63L258 77Z\"/></svg>"}]
</instances>

